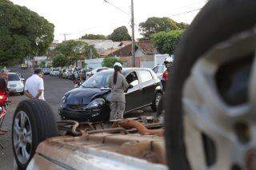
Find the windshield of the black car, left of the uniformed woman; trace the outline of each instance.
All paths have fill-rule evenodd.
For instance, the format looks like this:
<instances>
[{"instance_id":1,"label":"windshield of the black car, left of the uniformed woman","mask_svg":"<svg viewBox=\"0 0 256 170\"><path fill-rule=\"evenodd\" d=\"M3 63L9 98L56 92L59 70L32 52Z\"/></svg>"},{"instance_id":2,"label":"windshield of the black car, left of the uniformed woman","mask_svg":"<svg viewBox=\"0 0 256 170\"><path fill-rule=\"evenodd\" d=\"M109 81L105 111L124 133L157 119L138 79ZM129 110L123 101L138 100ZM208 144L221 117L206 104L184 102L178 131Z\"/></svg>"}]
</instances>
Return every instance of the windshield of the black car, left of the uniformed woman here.
<instances>
[{"instance_id":1,"label":"windshield of the black car, left of the uniformed woman","mask_svg":"<svg viewBox=\"0 0 256 170\"><path fill-rule=\"evenodd\" d=\"M82 84L83 88L107 88L111 73L96 73Z\"/></svg>"}]
</instances>

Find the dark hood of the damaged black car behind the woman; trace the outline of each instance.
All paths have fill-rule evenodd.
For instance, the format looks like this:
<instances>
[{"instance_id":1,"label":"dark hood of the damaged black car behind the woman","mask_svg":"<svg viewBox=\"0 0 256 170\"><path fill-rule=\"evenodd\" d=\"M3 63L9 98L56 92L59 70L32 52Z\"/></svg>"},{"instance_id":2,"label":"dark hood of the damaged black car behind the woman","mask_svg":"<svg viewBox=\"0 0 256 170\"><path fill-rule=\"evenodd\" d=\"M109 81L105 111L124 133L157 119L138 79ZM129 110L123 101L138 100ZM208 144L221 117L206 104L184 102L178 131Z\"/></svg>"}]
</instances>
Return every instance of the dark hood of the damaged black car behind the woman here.
<instances>
[{"instance_id":1,"label":"dark hood of the damaged black car behind the woman","mask_svg":"<svg viewBox=\"0 0 256 170\"><path fill-rule=\"evenodd\" d=\"M110 93L110 90L77 88L65 94L67 105L88 105L95 97Z\"/></svg>"}]
</instances>

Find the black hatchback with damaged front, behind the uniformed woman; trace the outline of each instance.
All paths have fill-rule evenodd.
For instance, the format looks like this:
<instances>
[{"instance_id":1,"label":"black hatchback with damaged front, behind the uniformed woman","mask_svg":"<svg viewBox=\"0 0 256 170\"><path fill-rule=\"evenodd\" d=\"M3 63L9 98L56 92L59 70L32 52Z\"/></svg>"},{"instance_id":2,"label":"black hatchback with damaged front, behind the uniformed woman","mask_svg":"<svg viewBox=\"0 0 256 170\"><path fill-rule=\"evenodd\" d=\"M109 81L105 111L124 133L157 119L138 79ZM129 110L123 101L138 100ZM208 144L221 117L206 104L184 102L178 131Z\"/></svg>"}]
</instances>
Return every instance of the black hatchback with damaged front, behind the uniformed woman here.
<instances>
[{"instance_id":1,"label":"black hatchback with damaged front, behind the uniformed woman","mask_svg":"<svg viewBox=\"0 0 256 170\"><path fill-rule=\"evenodd\" d=\"M114 69L95 73L79 88L66 93L62 98L59 114L62 119L77 121L106 121L110 117L109 77ZM126 93L126 111L151 106L156 110L162 97L162 88L156 74L151 69L123 69L127 82L133 85Z\"/></svg>"}]
</instances>

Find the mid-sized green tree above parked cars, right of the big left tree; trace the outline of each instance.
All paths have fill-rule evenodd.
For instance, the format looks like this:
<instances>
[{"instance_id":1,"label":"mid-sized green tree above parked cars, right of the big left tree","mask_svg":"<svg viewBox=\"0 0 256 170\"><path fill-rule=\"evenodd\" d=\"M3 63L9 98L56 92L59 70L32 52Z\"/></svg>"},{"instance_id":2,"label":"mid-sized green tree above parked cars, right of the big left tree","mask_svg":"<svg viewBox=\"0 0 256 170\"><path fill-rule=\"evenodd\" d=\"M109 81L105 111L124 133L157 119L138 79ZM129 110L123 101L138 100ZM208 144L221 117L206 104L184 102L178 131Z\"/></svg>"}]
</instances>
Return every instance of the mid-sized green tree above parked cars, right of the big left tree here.
<instances>
[{"instance_id":1,"label":"mid-sized green tree above parked cars, right of the big left tree","mask_svg":"<svg viewBox=\"0 0 256 170\"><path fill-rule=\"evenodd\" d=\"M57 45L55 49L58 53L62 53L67 60L68 65L73 65L75 61L84 60L85 58L98 57L98 53L93 45L86 42L69 40Z\"/></svg>"}]
</instances>

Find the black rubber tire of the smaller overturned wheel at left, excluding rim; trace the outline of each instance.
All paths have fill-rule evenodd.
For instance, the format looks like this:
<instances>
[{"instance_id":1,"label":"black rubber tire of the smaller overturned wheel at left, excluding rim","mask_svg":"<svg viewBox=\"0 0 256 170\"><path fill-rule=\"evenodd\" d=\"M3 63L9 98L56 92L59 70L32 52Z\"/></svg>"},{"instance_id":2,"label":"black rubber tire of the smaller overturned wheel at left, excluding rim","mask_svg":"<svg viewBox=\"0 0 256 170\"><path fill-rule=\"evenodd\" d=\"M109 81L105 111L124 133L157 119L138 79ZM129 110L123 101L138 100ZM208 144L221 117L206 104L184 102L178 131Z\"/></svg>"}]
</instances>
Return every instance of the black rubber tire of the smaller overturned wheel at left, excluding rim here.
<instances>
[{"instance_id":1,"label":"black rubber tire of the smaller overturned wheel at left, excluding rim","mask_svg":"<svg viewBox=\"0 0 256 170\"><path fill-rule=\"evenodd\" d=\"M32 133L32 142L29 146L26 146L30 151L29 159L26 162L21 162L18 159L14 147L14 121L15 118L18 117L18 114L22 112L26 113L26 117L28 117L29 121L26 122L30 123L30 129ZM30 160L34 156L38 144L52 136L58 136L57 126L55 124L54 113L46 101L27 100L20 102L17 109L15 110L12 124L12 145L18 168L26 169L27 165L30 163Z\"/></svg>"}]
</instances>

